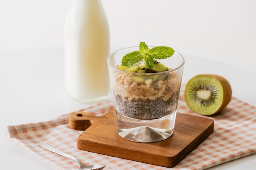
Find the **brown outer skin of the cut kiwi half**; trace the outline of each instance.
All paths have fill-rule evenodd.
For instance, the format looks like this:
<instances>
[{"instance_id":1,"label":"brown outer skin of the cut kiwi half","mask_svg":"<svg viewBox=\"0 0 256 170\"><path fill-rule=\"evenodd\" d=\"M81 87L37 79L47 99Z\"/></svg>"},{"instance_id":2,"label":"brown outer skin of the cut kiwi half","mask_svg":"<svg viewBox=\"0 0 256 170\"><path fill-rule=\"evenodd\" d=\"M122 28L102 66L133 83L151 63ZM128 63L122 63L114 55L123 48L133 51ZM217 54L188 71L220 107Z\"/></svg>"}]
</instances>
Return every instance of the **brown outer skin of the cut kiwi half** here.
<instances>
[{"instance_id":1,"label":"brown outer skin of the cut kiwi half","mask_svg":"<svg viewBox=\"0 0 256 170\"><path fill-rule=\"evenodd\" d=\"M231 89L231 85L229 84L229 82L227 81L226 78L222 77L222 76L219 76L219 75L216 75L216 74L200 74L200 75L197 75L195 77L200 77L200 76L210 76L210 77L213 77L213 78L216 78L221 86L222 86L222 90L223 90L223 100L222 100L222 104L220 105L220 107L214 111L213 113L199 113L198 114L201 114L201 115L206 115L206 116L211 116L211 115L214 115L216 113L219 113L220 111L222 111L228 104L229 102L231 101L231 98L232 98L232 89ZM193 77L193 78L195 78ZM192 81L192 79L190 81ZM187 88L187 85L186 85L186 88ZM185 89L185 100L186 100L186 103L188 104L188 99L186 98L186 89ZM188 105L189 106L189 105ZM190 106L189 106L190 107ZM193 110L192 107L190 107L191 110ZM194 111L194 110L193 110Z\"/></svg>"}]
</instances>

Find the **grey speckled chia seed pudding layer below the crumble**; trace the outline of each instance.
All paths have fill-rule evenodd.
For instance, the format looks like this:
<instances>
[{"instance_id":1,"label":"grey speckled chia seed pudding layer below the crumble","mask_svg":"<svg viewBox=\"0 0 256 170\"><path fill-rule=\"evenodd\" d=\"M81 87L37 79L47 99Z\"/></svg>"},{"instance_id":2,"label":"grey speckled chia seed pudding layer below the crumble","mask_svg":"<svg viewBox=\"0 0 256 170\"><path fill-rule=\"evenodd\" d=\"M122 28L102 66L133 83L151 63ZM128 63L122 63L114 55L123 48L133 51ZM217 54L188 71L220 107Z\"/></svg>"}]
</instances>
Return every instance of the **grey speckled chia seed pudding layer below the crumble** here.
<instances>
[{"instance_id":1,"label":"grey speckled chia seed pudding layer below the crumble","mask_svg":"<svg viewBox=\"0 0 256 170\"><path fill-rule=\"evenodd\" d=\"M177 109L179 92L164 101L162 98L132 99L114 94L114 107L117 113L136 119L157 119L168 116Z\"/></svg>"}]
</instances>

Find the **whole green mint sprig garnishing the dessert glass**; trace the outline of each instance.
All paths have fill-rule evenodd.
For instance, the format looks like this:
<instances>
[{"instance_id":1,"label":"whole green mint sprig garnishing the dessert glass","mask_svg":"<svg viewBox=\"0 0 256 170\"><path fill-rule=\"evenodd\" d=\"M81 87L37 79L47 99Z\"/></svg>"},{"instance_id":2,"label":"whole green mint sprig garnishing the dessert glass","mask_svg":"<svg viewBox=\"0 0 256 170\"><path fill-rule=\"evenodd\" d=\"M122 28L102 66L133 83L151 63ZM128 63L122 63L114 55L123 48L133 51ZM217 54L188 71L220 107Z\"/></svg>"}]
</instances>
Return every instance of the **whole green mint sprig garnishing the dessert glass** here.
<instances>
[{"instance_id":1,"label":"whole green mint sprig garnishing the dessert glass","mask_svg":"<svg viewBox=\"0 0 256 170\"><path fill-rule=\"evenodd\" d=\"M148 49L145 42L139 43L139 51L134 51L126 54L122 58L122 65L130 67L144 59L148 68L152 69L154 66L154 59L166 59L171 57L175 51L171 47L157 46Z\"/></svg>"}]
</instances>

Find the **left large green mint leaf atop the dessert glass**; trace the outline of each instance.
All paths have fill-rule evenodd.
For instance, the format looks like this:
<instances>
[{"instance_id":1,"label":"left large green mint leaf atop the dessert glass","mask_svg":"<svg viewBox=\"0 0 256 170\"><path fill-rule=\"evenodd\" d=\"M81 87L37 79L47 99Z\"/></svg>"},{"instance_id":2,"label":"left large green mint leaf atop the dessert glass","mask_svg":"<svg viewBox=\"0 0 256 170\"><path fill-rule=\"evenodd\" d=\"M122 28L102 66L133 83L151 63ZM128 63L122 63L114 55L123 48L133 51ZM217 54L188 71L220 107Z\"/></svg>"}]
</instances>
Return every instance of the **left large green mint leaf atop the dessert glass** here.
<instances>
[{"instance_id":1,"label":"left large green mint leaf atop the dessert glass","mask_svg":"<svg viewBox=\"0 0 256 170\"><path fill-rule=\"evenodd\" d=\"M141 53L141 51L130 52L122 58L122 65L130 67L142 59L144 59L144 53Z\"/></svg>"}]
</instances>

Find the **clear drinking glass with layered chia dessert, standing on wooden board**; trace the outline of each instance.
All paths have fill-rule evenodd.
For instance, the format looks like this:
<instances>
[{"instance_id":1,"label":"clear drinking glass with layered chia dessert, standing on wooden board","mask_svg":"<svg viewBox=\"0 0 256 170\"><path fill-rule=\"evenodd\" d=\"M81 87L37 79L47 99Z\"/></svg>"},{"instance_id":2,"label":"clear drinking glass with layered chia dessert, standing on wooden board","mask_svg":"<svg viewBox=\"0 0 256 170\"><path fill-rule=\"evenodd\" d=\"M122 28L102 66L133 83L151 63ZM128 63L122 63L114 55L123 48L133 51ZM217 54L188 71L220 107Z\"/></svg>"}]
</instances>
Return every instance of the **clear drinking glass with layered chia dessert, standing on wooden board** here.
<instances>
[{"instance_id":1,"label":"clear drinking glass with layered chia dessert, standing on wooden board","mask_svg":"<svg viewBox=\"0 0 256 170\"><path fill-rule=\"evenodd\" d=\"M159 60L170 68L165 72L119 70L123 56L135 50L139 47L117 50L107 60L117 132L134 142L162 141L173 134L184 58L175 52Z\"/></svg>"}]
</instances>

